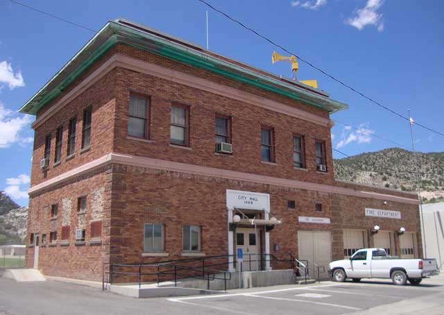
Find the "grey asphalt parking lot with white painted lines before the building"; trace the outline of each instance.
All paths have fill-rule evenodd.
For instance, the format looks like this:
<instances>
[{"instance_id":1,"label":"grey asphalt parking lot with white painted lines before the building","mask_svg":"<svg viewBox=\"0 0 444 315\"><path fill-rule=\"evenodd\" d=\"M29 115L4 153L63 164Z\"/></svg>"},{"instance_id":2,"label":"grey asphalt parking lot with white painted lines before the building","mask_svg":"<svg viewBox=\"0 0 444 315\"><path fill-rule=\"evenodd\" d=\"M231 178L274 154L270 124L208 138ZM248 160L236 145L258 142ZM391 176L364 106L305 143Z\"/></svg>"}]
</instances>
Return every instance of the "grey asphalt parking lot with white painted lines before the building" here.
<instances>
[{"instance_id":1,"label":"grey asphalt parking lot with white painted lines before the building","mask_svg":"<svg viewBox=\"0 0 444 315\"><path fill-rule=\"evenodd\" d=\"M439 276L440 279L444 277ZM65 282L0 278L0 314L444 314L439 279L419 287L391 282L321 282L232 290L213 296L136 299Z\"/></svg>"}]
</instances>

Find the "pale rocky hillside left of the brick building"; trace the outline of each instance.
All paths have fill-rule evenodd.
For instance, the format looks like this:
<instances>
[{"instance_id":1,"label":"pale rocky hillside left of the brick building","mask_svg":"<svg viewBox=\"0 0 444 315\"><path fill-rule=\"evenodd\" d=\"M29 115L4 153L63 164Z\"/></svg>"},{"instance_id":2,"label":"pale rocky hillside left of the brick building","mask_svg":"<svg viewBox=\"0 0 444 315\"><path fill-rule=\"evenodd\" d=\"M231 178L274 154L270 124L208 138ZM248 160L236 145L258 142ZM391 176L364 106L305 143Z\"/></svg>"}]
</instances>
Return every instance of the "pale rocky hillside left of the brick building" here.
<instances>
[{"instance_id":1,"label":"pale rocky hillside left of the brick building","mask_svg":"<svg viewBox=\"0 0 444 315\"><path fill-rule=\"evenodd\" d=\"M0 245L24 244L28 207L20 207L0 191Z\"/></svg>"}]
</instances>

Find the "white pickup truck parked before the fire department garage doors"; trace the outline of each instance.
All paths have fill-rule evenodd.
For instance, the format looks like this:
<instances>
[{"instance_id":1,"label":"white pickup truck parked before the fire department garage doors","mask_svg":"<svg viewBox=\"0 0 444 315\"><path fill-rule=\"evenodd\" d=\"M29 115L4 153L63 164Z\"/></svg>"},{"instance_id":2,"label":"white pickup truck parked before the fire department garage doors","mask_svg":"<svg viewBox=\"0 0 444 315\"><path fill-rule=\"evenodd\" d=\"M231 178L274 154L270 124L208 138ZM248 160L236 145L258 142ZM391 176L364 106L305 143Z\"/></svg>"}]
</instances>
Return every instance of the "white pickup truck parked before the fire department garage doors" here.
<instances>
[{"instance_id":1,"label":"white pickup truck parked before the fire department garage doors","mask_svg":"<svg viewBox=\"0 0 444 315\"><path fill-rule=\"evenodd\" d=\"M364 248L350 259L330 262L330 274L336 282L352 278L391 278L393 284L402 285L409 280L413 285L420 284L422 278L439 273L436 259L400 259L386 254L382 248Z\"/></svg>"}]
</instances>

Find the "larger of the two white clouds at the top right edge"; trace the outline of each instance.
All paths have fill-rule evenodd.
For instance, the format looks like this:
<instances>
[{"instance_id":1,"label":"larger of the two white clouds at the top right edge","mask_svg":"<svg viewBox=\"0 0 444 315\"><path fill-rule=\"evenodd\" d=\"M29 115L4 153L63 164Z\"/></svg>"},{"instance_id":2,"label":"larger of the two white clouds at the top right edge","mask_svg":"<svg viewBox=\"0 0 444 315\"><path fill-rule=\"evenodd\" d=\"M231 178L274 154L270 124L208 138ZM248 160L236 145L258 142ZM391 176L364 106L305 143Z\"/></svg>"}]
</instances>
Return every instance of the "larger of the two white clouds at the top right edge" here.
<instances>
[{"instance_id":1,"label":"larger of the two white clouds at the top right edge","mask_svg":"<svg viewBox=\"0 0 444 315\"><path fill-rule=\"evenodd\" d=\"M382 13L377 10L382 6L384 0L367 0L366 6L355 10L355 16L350 17L345 23L361 31L367 25L374 25L378 32L384 31L384 22L382 22Z\"/></svg>"}]
</instances>

